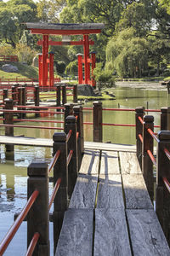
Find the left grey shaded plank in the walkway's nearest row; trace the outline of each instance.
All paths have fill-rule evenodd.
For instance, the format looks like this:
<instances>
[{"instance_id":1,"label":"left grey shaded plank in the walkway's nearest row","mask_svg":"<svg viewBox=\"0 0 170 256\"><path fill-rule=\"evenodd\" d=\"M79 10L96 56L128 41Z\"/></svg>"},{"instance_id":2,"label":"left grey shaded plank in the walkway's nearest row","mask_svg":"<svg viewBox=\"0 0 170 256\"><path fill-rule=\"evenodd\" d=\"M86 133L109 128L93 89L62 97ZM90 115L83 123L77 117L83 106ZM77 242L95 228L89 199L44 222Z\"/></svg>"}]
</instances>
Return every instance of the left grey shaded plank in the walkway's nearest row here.
<instances>
[{"instance_id":1,"label":"left grey shaded plank in the walkway's nearest row","mask_svg":"<svg viewBox=\"0 0 170 256\"><path fill-rule=\"evenodd\" d=\"M55 256L92 255L93 218L94 210L66 211Z\"/></svg>"}]
</instances>

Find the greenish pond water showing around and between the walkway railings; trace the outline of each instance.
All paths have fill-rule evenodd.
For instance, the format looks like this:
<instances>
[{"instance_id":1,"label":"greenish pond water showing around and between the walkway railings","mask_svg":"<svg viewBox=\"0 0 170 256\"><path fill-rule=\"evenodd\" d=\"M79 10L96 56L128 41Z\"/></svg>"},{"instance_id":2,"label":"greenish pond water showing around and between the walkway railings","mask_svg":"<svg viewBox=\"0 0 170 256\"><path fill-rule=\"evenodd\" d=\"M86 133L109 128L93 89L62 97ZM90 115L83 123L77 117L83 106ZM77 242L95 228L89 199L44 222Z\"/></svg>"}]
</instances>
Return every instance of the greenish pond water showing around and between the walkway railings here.
<instances>
[{"instance_id":1,"label":"greenish pond water showing around and between the walkway railings","mask_svg":"<svg viewBox=\"0 0 170 256\"><path fill-rule=\"evenodd\" d=\"M160 109L169 106L167 90L146 90L133 89L127 87L116 87L112 92L116 95L116 100L104 101L103 108L136 108L144 106L150 109ZM92 107L92 102L86 103L85 107ZM150 113L152 114L152 113ZM154 113L155 124L160 125L160 114ZM46 119L59 119L62 117L46 117ZM42 118L44 119L44 117ZM93 119L92 111L85 111L84 122L91 122ZM104 123L115 124L134 124L134 112L104 112ZM21 125L22 123L20 123ZM25 123L26 124L26 123ZM37 125L37 123L27 123L28 125ZM41 124L43 125L43 124ZM44 124L48 126L57 126L56 124ZM84 126L84 135L86 141L93 140L91 125ZM0 134L4 134L4 129L0 128ZM14 135L25 134L26 137L53 137L54 131L36 130L36 129L14 129ZM103 142L111 143L135 143L135 130L133 127L105 126L103 132ZM27 166L32 160L50 161L52 157L52 148L33 148L16 146L14 149L14 160L5 159L5 147L0 146L0 241L5 236L11 224L13 224L14 213L20 212L26 204L26 183ZM50 193L52 190L50 184ZM51 210L53 211L53 209ZM53 255L53 228L50 224L50 242L51 255ZM24 255L26 253L26 223L21 224L19 232L9 245L4 255Z\"/></svg>"}]
</instances>

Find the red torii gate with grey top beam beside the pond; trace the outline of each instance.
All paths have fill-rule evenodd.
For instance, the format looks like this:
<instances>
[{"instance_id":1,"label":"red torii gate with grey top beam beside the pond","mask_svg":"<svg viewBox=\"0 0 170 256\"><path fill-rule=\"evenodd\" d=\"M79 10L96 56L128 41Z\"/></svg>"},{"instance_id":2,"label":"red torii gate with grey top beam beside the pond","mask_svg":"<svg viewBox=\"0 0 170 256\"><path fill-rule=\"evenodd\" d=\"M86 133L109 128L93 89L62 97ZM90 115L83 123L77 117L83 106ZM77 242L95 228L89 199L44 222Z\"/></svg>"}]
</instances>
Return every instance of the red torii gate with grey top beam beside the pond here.
<instances>
[{"instance_id":1,"label":"red torii gate with grey top beam beside the pond","mask_svg":"<svg viewBox=\"0 0 170 256\"><path fill-rule=\"evenodd\" d=\"M83 24L49 24L49 23L26 23L26 29L29 29L32 34L42 34L42 40L38 41L42 45L42 55L39 55L39 85L54 86L54 54L48 53L49 45L83 45L84 58L78 56L78 83L92 84L95 86L93 79L93 70L95 67L95 53L89 54L89 45L93 45L94 41L88 40L89 34L100 33L104 28L101 23L83 23ZM48 40L49 35L83 35L83 40L62 42L54 42ZM82 64L84 64L84 80L82 72ZM91 72L90 72L91 64ZM49 67L49 72L48 72Z\"/></svg>"}]
</instances>

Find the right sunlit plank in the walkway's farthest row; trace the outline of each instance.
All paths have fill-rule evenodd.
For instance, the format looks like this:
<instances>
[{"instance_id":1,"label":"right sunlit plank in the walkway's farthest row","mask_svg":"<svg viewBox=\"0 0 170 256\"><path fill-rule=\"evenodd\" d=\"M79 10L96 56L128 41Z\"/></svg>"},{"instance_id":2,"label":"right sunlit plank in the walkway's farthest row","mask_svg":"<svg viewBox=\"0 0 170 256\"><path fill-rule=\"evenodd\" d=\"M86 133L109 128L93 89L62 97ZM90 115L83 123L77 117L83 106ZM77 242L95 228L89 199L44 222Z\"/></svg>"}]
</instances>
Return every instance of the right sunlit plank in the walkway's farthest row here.
<instances>
[{"instance_id":1,"label":"right sunlit plank in the walkway's farthest row","mask_svg":"<svg viewBox=\"0 0 170 256\"><path fill-rule=\"evenodd\" d=\"M135 153L120 152L122 174L141 173L139 161Z\"/></svg>"}]
</instances>

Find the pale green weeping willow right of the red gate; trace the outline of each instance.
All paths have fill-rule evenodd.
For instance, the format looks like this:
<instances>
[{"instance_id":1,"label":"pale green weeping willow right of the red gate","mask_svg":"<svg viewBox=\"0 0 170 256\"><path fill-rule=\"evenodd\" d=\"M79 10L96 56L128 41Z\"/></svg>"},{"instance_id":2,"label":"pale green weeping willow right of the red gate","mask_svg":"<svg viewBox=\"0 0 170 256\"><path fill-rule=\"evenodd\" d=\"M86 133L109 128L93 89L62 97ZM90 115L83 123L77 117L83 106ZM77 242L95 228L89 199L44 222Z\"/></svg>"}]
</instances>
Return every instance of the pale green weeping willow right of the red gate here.
<instances>
[{"instance_id":1,"label":"pale green weeping willow right of the red gate","mask_svg":"<svg viewBox=\"0 0 170 256\"><path fill-rule=\"evenodd\" d=\"M106 69L116 71L120 77L140 78L148 63L148 43L135 36L133 28L119 32L106 48Z\"/></svg>"}]
</instances>

